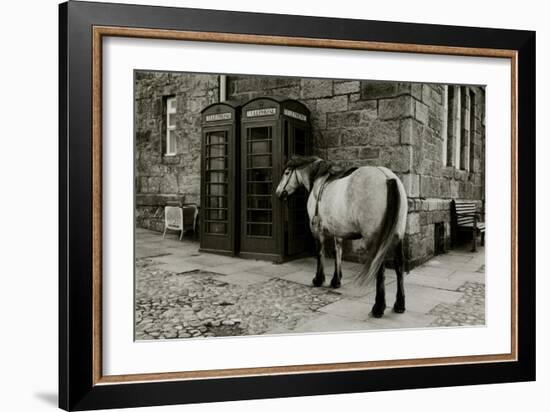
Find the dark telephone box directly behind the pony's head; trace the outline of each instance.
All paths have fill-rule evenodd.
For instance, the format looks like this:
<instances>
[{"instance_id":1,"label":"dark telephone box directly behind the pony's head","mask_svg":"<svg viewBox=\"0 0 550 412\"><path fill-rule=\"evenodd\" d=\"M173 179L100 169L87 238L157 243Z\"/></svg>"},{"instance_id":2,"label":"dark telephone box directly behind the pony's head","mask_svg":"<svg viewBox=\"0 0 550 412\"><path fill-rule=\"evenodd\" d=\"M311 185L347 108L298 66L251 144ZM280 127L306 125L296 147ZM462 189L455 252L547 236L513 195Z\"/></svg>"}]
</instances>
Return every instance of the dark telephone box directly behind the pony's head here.
<instances>
[{"instance_id":1,"label":"dark telephone box directly behind the pony's head","mask_svg":"<svg viewBox=\"0 0 550 412\"><path fill-rule=\"evenodd\" d=\"M287 201L275 189L288 158L311 153L309 110L290 99L262 97L241 108L240 252L276 262L308 251L305 191Z\"/></svg>"}]
</instances>

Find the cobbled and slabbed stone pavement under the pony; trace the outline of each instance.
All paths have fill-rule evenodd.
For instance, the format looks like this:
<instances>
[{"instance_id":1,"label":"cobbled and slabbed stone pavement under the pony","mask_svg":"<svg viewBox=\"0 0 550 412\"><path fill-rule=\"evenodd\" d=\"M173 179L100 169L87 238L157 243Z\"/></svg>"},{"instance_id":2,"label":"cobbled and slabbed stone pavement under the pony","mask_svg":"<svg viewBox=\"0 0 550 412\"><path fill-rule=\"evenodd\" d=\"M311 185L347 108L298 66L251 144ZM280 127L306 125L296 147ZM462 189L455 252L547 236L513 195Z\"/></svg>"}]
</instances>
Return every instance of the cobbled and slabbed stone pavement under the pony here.
<instances>
[{"instance_id":1,"label":"cobbled and slabbed stone pavement under the pony","mask_svg":"<svg viewBox=\"0 0 550 412\"><path fill-rule=\"evenodd\" d=\"M327 259L327 268L334 263ZM375 291L352 282L361 265L343 262L340 289L311 286L315 260L284 264L199 253L198 243L136 230L137 340L485 324L485 254L453 250L405 276L407 310L393 313L386 271L384 317L370 316Z\"/></svg>"}]
</instances>

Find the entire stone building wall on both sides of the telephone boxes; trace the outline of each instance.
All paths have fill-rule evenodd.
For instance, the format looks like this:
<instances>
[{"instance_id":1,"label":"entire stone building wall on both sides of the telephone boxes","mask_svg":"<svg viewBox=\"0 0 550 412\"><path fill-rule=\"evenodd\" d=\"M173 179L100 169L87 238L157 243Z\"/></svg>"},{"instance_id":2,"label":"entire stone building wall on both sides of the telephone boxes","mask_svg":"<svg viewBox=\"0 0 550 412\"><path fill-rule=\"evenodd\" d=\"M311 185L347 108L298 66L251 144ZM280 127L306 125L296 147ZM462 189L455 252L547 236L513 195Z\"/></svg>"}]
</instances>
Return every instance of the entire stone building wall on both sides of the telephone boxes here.
<instances>
[{"instance_id":1,"label":"entire stone building wall on both sides of the telephone boxes","mask_svg":"<svg viewBox=\"0 0 550 412\"><path fill-rule=\"evenodd\" d=\"M178 155L168 159L161 155L162 106L163 99L171 95L177 97ZM246 101L265 95L297 99L309 108L315 154L341 166L386 166L402 179L409 198L405 253L411 265L433 256L436 223L443 225L449 246L451 199L475 199L482 205L483 88L265 76L227 78L230 99ZM218 96L218 76L136 76L139 226L160 230L166 202L180 199L198 203L199 114ZM345 256L359 259L361 255L361 242L348 242Z\"/></svg>"}]
</instances>

